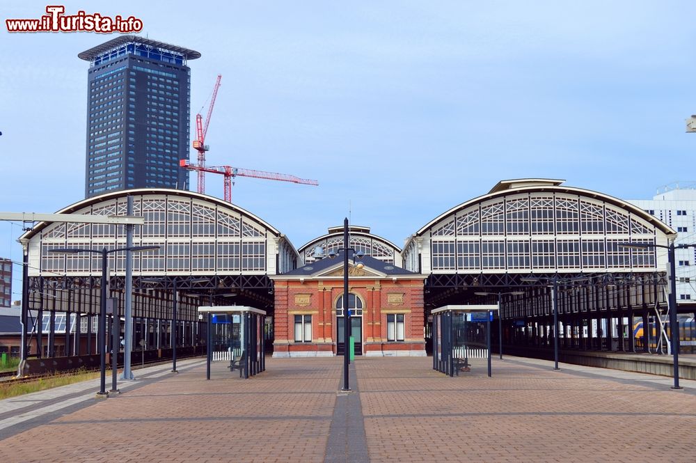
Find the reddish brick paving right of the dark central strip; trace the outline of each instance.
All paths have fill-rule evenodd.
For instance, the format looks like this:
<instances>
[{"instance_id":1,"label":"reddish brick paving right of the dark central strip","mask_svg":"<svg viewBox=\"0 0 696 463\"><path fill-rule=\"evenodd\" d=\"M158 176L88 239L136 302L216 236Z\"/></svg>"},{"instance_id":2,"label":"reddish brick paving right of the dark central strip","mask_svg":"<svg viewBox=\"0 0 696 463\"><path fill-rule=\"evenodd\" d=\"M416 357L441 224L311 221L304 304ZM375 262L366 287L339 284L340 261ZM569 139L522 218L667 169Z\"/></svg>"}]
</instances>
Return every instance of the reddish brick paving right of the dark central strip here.
<instances>
[{"instance_id":1,"label":"reddish brick paving right of the dark central strip","mask_svg":"<svg viewBox=\"0 0 696 463\"><path fill-rule=\"evenodd\" d=\"M356 363L371 462L696 461L693 389L551 362L494 360L489 378L485 361L447 377L402 360Z\"/></svg>"}]
</instances>

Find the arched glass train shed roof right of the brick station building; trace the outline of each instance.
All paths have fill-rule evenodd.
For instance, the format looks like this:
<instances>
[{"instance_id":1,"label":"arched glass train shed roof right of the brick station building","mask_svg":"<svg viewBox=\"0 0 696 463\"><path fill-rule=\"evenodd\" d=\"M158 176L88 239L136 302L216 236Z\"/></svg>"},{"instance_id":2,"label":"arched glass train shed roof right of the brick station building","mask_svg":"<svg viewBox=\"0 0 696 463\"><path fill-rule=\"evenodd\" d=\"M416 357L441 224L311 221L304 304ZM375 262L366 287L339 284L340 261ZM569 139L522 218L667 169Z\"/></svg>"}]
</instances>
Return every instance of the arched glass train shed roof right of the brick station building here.
<instances>
[{"instance_id":1,"label":"arched glass train shed roof right of the brick station building","mask_svg":"<svg viewBox=\"0 0 696 463\"><path fill-rule=\"evenodd\" d=\"M667 244L674 230L644 210L563 180L503 180L438 215L411 235L403 267L429 274L426 292L504 291L530 276L640 278L663 272L666 252L622 244ZM439 288L439 290L438 290Z\"/></svg>"}]
</instances>

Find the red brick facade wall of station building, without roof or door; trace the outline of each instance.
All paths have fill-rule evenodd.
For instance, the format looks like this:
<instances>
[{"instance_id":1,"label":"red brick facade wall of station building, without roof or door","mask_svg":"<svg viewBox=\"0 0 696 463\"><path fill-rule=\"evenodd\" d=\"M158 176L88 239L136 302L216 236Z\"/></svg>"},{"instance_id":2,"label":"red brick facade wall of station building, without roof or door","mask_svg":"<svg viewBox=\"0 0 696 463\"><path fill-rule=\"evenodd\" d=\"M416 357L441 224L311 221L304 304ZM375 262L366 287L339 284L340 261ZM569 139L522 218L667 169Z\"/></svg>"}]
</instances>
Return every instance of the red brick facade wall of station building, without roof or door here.
<instances>
[{"instance_id":1,"label":"red brick facade wall of station building, without roof or door","mask_svg":"<svg viewBox=\"0 0 696 463\"><path fill-rule=\"evenodd\" d=\"M362 302L363 355L425 356L423 276L379 275L369 268L349 272L349 292ZM306 276L273 276L274 356L336 354L336 304L343 295L342 268ZM404 340L388 340L387 315L404 315ZM294 339L294 316L311 315L311 342Z\"/></svg>"}]
</instances>

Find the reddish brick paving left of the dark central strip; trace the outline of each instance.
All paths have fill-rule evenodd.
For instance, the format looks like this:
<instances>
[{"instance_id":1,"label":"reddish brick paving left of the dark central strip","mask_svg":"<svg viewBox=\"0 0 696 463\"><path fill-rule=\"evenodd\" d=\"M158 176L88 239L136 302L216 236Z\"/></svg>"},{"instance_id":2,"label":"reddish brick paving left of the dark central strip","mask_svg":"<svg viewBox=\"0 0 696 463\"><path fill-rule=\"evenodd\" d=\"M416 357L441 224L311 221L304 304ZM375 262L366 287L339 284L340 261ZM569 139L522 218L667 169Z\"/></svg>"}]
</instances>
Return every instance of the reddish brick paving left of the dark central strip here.
<instances>
[{"instance_id":1,"label":"reddish brick paving left of the dark central strip","mask_svg":"<svg viewBox=\"0 0 696 463\"><path fill-rule=\"evenodd\" d=\"M339 361L210 381L200 363L0 441L0 462L323 462Z\"/></svg>"}]
</instances>

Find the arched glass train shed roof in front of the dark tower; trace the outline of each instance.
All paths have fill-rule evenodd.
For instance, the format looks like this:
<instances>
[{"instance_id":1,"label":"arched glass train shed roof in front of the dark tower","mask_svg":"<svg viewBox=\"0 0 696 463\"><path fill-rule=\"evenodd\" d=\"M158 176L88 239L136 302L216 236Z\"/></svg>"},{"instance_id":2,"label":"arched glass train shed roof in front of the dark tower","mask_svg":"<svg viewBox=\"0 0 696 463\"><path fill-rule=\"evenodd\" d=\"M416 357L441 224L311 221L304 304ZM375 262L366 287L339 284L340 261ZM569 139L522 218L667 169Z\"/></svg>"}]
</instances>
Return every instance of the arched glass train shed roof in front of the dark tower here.
<instances>
[{"instance_id":1,"label":"arched glass train shed roof in front of the dark tower","mask_svg":"<svg viewBox=\"0 0 696 463\"><path fill-rule=\"evenodd\" d=\"M151 290L155 281L155 288L170 293L176 287L190 297L224 297L226 304L236 301L265 308L273 304L272 282L267 275L296 268L298 253L277 228L237 205L191 191L116 191L79 201L58 213L126 215L129 196L134 202L133 214L145 217L145 225L135 226L133 246L161 246L159 251L133 254L136 290ZM34 292L45 293L46 288L56 285L79 285L90 288L87 292L91 294L100 284L101 256L50 251L124 247L126 228L40 222L20 239L29 240L29 278ZM125 252L111 254L109 266L109 288L122 288ZM90 299L90 304L95 303Z\"/></svg>"}]
</instances>

